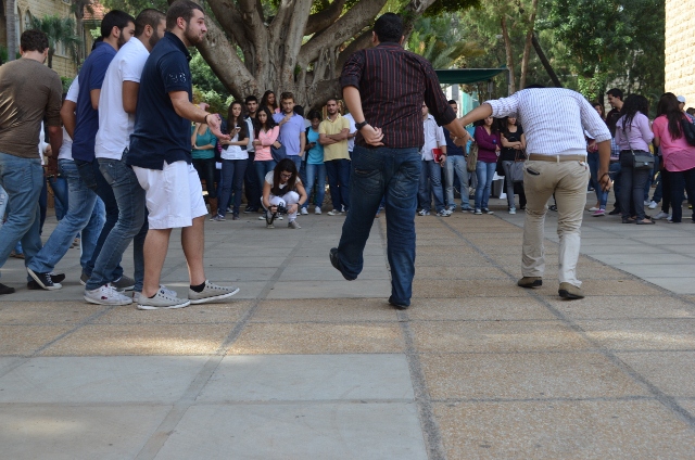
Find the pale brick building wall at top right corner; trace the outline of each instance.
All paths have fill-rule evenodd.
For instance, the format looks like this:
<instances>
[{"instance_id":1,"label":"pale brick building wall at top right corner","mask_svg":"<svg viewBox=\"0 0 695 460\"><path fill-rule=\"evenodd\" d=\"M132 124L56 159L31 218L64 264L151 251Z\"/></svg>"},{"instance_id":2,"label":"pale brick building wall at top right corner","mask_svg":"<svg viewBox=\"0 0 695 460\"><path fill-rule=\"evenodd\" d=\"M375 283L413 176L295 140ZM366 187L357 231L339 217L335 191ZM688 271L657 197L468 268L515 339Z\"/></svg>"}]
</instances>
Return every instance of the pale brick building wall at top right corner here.
<instances>
[{"instance_id":1,"label":"pale brick building wall at top right corner","mask_svg":"<svg viewBox=\"0 0 695 460\"><path fill-rule=\"evenodd\" d=\"M695 0L666 0L666 91L695 107Z\"/></svg>"}]
</instances>

